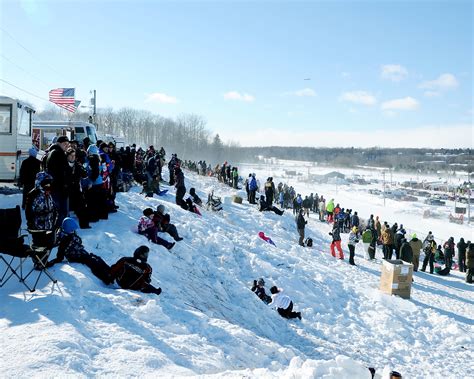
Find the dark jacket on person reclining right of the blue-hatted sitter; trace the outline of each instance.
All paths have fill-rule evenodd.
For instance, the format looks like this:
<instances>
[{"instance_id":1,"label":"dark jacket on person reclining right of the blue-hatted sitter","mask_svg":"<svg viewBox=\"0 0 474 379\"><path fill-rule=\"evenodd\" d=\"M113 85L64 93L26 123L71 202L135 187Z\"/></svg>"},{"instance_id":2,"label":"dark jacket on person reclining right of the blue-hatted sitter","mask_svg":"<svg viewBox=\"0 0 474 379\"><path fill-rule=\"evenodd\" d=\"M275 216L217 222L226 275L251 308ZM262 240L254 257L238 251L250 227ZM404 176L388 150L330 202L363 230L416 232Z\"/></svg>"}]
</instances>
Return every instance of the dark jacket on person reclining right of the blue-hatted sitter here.
<instances>
[{"instance_id":1,"label":"dark jacket on person reclining right of the blue-hatted sitter","mask_svg":"<svg viewBox=\"0 0 474 379\"><path fill-rule=\"evenodd\" d=\"M111 280L124 289L142 290L151 283L153 270L148 263L133 257L121 258L110 268Z\"/></svg>"}]
</instances>

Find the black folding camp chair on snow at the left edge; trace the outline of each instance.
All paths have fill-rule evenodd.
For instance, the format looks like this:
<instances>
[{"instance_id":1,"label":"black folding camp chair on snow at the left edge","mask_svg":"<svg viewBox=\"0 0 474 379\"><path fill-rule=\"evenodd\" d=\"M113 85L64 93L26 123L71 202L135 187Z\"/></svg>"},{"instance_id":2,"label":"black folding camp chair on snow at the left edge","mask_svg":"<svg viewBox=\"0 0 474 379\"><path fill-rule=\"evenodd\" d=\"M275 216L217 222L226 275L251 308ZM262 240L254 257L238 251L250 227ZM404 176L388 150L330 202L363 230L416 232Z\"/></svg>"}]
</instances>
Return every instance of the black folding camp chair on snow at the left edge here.
<instances>
[{"instance_id":1,"label":"black folding camp chair on snow at the left edge","mask_svg":"<svg viewBox=\"0 0 474 379\"><path fill-rule=\"evenodd\" d=\"M3 287L12 277L16 277L30 292L36 290L41 275L47 275L53 283L56 279L46 269L46 260L53 247L53 232L32 231L32 246L24 244L27 235L21 235L21 210L15 208L0 209L0 259L6 264L6 269L0 277L0 287ZM7 258L4 255L8 256ZM25 274L23 265L28 258L34 262L32 268ZM35 283L30 286L26 279L37 272Z\"/></svg>"}]
</instances>

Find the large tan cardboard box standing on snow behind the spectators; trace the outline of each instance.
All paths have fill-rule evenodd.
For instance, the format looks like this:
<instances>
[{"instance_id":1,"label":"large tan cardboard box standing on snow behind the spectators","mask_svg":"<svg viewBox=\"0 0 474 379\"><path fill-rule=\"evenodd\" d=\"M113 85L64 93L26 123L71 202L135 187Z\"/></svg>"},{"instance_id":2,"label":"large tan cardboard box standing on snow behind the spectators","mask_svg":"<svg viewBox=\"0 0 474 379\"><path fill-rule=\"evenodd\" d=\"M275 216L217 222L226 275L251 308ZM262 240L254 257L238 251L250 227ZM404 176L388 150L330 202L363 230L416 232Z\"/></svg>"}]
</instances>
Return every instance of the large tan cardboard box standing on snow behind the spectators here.
<instances>
[{"instance_id":1,"label":"large tan cardboard box standing on snow behind the spectators","mask_svg":"<svg viewBox=\"0 0 474 379\"><path fill-rule=\"evenodd\" d=\"M413 265L400 259L384 260L380 277L380 290L389 295L409 299L413 278Z\"/></svg>"}]
</instances>

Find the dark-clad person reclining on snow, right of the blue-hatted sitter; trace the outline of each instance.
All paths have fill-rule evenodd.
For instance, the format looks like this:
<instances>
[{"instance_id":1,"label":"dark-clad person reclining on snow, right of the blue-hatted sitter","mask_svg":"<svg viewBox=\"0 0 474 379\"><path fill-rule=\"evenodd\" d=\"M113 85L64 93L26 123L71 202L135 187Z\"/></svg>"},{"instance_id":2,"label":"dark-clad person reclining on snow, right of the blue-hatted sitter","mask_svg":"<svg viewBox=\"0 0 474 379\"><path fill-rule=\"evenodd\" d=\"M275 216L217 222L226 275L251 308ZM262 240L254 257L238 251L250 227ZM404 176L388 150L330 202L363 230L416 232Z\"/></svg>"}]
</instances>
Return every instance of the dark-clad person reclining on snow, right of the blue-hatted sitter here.
<instances>
[{"instance_id":1,"label":"dark-clad person reclining on snow, right of the blue-hatted sitter","mask_svg":"<svg viewBox=\"0 0 474 379\"><path fill-rule=\"evenodd\" d=\"M147 246L138 247L133 257L120 258L110 268L110 278L115 280L123 289L154 293L159 295L161 288L153 287L151 283L151 266L146 263L150 249Z\"/></svg>"}]
</instances>

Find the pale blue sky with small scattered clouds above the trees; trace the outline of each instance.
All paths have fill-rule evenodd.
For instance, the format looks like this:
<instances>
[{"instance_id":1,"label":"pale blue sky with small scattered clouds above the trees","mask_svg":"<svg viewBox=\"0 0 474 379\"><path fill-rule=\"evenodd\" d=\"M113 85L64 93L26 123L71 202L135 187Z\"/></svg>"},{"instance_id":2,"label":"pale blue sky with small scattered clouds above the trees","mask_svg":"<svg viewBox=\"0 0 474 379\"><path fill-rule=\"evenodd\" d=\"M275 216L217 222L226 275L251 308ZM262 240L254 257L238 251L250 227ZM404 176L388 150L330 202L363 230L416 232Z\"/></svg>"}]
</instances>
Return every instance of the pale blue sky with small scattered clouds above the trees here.
<instances>
[{"instance_id":1,"label":"pale blue sky with small scattered clouds above the trees","mask_svg":"<svg viewBox=\"0 0 474 379\"><path fill-rule=\"evenodd\" d=\"M470 1L0 7L0 78L40 98L96 89L99 107L197 113L243 145L474 145Z\"/></svg>"}]
</instances>

